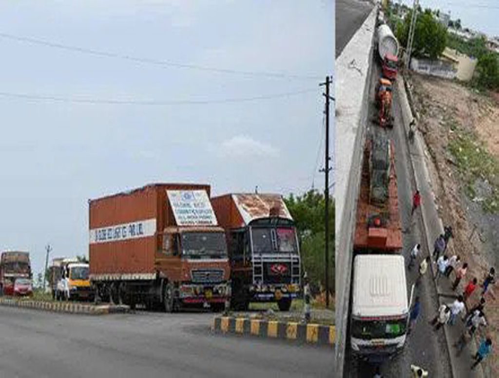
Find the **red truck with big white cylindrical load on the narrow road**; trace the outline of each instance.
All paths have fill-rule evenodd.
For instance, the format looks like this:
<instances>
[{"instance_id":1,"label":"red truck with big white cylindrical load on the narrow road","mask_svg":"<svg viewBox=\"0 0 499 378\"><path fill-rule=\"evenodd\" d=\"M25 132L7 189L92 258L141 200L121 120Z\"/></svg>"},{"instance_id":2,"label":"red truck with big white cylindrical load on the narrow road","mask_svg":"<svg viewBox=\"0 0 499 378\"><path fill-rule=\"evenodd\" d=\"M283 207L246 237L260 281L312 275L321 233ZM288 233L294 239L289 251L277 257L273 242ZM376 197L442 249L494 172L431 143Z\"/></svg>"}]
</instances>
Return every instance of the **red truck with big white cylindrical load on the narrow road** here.
<instances>
[{"instance_id":1,"label":"red truck with big white cylindrical load on the narrow road","mask_svg":"<svg viewBox=\"0 0 499 378\"><path fill-rule=\"evenodd\" d=\"M376 29L376 46L383 77L395 80L399 62L399 41L386 23L379 25Z\"/></svg>"}]
</instances>

